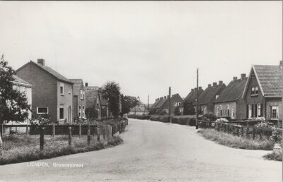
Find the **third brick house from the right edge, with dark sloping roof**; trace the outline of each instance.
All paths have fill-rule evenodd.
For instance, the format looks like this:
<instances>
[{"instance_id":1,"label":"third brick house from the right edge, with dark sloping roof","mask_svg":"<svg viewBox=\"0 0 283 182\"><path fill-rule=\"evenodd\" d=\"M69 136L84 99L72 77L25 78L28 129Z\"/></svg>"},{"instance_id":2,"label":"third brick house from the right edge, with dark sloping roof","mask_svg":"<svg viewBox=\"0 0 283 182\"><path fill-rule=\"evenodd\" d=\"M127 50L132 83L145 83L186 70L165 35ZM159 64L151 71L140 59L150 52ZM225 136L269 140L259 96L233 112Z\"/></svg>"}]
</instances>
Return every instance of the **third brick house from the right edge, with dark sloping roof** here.
<instances>
[{"instance_id":1,"label":"third brick house from the right edge, with dark sloping roof","mask_svg":"<svg viewBox=\"0 0 283 182\"><path fill-rule=\"evenodd\" d=\"M226 85L222 81L219 81L218 85L214 82L213 85L209 84L204 92L199 95L199 107L202 114L214 114L214 102L225 88Z\"/></svg>"}]
</instances>

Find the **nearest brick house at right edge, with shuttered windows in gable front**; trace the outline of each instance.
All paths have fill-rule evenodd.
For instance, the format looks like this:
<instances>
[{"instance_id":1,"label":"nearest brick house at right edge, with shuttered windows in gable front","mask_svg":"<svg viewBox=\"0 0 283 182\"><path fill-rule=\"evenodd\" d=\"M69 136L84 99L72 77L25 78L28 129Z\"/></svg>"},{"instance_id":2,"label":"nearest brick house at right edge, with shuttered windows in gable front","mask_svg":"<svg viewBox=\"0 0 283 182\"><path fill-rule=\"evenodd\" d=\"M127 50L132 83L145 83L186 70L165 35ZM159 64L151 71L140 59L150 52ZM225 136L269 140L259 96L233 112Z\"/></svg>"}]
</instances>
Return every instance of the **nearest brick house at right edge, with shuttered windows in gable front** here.
<instances>
[{"instance_id":1,"label":"nearest brick house at right edge, with shuttered windows in gable front","mask_svg":"<svg viewBox=\"0 0 283 182\"><path fill-rule=\"evenodd\" d=\"M243 91L246 118L282 121L283 76L279 66L253 65Z\"/></svg>"}]
</instances>

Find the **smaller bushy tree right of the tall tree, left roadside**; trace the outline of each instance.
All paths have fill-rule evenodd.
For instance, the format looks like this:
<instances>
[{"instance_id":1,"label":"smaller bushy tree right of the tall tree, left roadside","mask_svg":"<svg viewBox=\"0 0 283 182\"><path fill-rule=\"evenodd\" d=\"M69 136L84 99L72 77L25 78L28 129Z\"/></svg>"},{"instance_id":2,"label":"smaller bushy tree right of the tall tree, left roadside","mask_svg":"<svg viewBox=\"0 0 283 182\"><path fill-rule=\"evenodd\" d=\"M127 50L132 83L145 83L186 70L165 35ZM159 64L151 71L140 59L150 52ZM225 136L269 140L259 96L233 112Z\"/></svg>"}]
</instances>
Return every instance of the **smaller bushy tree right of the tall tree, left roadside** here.
<instances>
[{"instance_id":1,"label":"smaller bushy tree right of the tall tree, left roadside","mask_svg":"<svg viewBox=\"0 0 283 182\"><path fill-rule=\"evenodd\" d=\"M132 97L128 95L121 95L121 105L122 111L120 112L120 116L122 117L124 114L129 113L131 108L134 108L139 105L139 99L137 97Z\"/></svg>"}]
</instances>

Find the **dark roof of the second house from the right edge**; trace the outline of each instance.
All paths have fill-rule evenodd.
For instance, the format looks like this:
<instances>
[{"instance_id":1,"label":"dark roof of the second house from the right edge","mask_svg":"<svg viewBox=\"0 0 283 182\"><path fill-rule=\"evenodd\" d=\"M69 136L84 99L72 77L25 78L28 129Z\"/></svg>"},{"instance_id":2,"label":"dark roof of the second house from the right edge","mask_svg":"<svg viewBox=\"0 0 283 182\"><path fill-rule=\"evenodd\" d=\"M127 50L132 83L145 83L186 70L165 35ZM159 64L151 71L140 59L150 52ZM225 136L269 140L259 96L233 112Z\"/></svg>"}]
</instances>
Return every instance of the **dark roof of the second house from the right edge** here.
<instances>
[{"instance_id":1,"label":"dark roof of the second house from the right edge","mask_svg":"<svg viewBox=\"0 0 283 182\"><path fill-rule=\"evenodd\" d=\"M247 79L243 78L231 81L215 102L230 102L239 99L243 95Z\"/></svg>"}]
</instances>

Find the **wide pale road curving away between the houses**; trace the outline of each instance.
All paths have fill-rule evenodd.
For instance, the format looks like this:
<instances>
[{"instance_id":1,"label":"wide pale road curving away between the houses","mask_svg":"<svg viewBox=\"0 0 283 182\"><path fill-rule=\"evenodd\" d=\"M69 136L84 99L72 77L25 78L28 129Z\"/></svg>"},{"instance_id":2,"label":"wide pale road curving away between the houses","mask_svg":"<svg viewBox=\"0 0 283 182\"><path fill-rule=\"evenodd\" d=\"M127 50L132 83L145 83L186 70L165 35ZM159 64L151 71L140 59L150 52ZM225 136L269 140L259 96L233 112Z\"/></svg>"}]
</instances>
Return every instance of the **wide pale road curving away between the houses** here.
<instances>
[{"instance_id":1,"label":"wide pale road curving away between the houses","mask_svg":"<svg viewBox=\"0 0 283 182\"><path fill-rule=\"evenodd\" d=\"M129 119L124 143L105 150L0 166L0 181L282 181L282 163L267 151L205 140L194 127ZM83 164L83 168L53 163Z\"/></svg>"}]
</instances>

